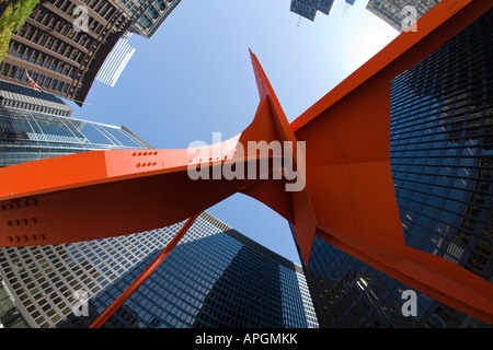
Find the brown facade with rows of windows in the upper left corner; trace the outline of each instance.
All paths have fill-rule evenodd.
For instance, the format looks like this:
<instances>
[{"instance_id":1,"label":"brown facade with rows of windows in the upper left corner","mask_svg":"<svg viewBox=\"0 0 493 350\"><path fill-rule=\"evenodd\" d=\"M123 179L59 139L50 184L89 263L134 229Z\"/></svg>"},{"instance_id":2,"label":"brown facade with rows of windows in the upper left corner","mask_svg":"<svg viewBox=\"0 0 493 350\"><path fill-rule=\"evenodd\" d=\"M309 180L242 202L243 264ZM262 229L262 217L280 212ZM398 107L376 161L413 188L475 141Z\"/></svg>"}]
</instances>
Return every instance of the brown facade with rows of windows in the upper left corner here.
<instances>
[{"instance_id":1,"label":"brown facade with rows of windows in the upper left corner","mask_svg":"<svg viewBox=\"0 0 493 350\"><path fill-rule=\"evenodd\" d=\"M0 78L28 86L27 72L46 92L82 105L105 57L130 25L112 1L42 1L12 33Z\"/></svg>"}]
</instances>

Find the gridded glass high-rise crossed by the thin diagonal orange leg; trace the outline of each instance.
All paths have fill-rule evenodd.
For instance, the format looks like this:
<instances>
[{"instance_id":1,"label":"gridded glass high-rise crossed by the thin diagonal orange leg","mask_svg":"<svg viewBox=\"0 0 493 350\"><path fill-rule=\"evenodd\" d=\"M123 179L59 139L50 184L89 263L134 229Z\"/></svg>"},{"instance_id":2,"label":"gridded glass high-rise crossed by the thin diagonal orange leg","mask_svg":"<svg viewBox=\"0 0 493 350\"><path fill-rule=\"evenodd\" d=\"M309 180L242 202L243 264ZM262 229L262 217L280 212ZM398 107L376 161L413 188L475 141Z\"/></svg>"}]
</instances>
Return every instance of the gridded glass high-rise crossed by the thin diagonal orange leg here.
<instances>
[{"instance_id":1,"label":"gridded glass high-rise crossed by the thin diagonal orange leg","mask_svg":"<svg viewBox=\"0 0 493 350\"><path fill-rule=\"evenodd\" d=\"M11 300L18 305L16 310L3 311L10 323L1 323L5 327L88 327L140 275L182 224L90 242L1 248L2 287L4 294L10 295L5 305L11 306ZM80 299L83 295L88 298ZM85 315L77 312L83 310L83 301ZM301 267L206 212L104 325L317 326Z\"/></svg>"}]
</instances>

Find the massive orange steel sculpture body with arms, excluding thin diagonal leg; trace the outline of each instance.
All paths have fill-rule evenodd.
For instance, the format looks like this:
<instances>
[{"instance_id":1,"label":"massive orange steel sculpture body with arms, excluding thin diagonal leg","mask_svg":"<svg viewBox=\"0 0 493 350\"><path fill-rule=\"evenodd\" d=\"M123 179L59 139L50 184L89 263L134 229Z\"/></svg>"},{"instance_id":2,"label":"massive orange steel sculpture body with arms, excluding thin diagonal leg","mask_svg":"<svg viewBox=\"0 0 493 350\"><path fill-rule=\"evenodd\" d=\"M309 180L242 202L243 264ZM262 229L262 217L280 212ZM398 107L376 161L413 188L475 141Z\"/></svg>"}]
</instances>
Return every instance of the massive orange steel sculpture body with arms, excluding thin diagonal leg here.
<instances>
[{"instance_id":1,"label":"massive orange steel sculpture body with arms, excluding thin diagonal leg","mask_svg":"<svg viewBox=\"0 0 493 350\"><path fill-rule=\"evenodd\" d=\"M236 192L288 220L305 264L313 237L340 247L451 307L493 324L493 284L452 262L408 247L390 168L390 82L491 9L490 1L443 0L290 125L251 54L260 93L252 124L220 144L190 150L95 151L0 170L0 245L87 241L173 224ZM293 154L257 154L249 141L291 142ZM306 145L306 153L296 152ZM238 151L238 152L237 152ZM218 156L219 155L219 156ZM286 191L293 158L305 165ZM256 177L192 179L256 166ZM262 173L263 172L263 173ZM283 174L275 179L274 174ZM262 176L267 176L266 179Z\"/></svg>"}]
</instances>

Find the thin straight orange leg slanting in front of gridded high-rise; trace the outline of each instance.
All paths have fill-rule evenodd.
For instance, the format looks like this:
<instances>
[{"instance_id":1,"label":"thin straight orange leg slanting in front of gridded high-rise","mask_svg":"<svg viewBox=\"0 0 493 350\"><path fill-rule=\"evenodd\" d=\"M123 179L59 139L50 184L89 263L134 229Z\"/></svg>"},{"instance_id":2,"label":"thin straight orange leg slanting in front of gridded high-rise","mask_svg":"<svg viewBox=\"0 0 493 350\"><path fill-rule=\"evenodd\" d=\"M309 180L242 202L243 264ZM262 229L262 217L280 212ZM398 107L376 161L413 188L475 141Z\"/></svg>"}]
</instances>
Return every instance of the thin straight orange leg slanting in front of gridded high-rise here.
<instances>
[{"instance_id":1,"label":"thin straight orange leg slanting in front of gridded high-rise","mask_svg":"<svg viewBox=\"0 0 493 350\"><path fill-rule=\"evenodd\" d=\"M161 250L151 264L139 275L139 277L104 311L89 328L101 328L110 317L130 298L130 295L144 283L144 281L160 266L160 264L170 255L171 250L180 243L186 232L192 228L199 214L190 218L180 229L179 233Z\"/></svg>"}]
</instances>

